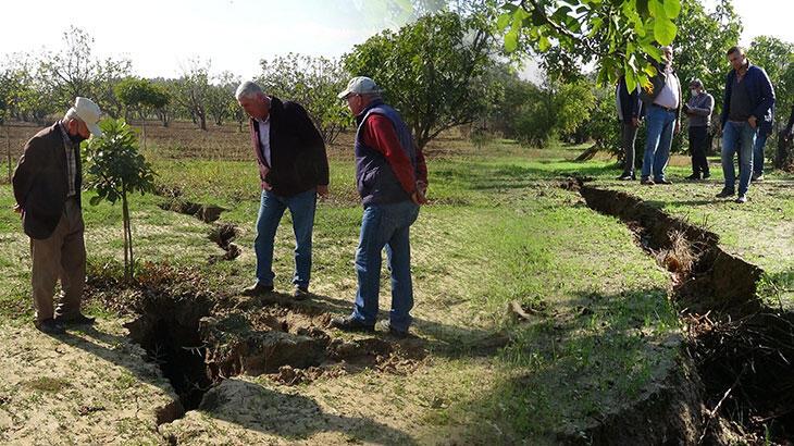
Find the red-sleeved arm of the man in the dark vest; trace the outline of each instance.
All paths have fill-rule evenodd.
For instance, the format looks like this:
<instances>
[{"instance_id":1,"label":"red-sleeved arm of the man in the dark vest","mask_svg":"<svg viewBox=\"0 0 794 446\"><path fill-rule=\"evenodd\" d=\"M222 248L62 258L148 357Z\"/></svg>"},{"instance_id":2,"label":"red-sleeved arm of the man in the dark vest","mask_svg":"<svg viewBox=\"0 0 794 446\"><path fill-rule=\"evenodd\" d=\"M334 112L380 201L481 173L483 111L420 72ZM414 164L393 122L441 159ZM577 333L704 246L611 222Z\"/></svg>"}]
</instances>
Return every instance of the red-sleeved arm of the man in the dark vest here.
<instances>
[{"instance_id":1,"label":"red-sleeved arm of the man in the dark vest","mask_svg":"<svg viewBox=\"0 0 794 446\"><path fill-rule=\"evenodd\" d=\"M397 181L409 196L417 190L417 174L408 154L402 150L394 124L388 117L371 114L367 119L367 132L363 135L364 144L381 152L392 168ZM424 161L424 159L423 159ZM417 159L419 166L419 159ZM426 169L426 168L425 168ZM425 173L426 179L426 173Z\"/></svg>"}]
</instances>

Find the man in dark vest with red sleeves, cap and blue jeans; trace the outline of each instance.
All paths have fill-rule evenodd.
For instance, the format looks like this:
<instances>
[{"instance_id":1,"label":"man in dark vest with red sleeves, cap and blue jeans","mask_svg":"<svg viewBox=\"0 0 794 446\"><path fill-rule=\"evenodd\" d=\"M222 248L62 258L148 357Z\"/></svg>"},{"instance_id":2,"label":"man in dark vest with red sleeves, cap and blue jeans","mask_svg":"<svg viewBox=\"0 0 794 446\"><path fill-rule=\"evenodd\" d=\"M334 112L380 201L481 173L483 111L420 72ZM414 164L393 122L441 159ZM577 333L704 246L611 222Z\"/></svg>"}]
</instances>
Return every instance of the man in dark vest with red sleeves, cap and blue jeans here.
<instances>
[{"instance_id":1,"label":"man in dark vest with red sleeves, cap and blue jeans","mask_svg":"<svg viewBox=\"0 0 794 446\"><path fill-rule=\"evenodd\" d=\"M399 113L381 99L369 77L353 77L338 95L356 116L356 184L364 206L356 250L356 307L331 326L368 331L375 326L381 284L381 252L386 248L392 271L392 311L386 331L405 337L411 325L413 285L409 228L426 202L427 168Z\"/></svg>"}]
</instances>

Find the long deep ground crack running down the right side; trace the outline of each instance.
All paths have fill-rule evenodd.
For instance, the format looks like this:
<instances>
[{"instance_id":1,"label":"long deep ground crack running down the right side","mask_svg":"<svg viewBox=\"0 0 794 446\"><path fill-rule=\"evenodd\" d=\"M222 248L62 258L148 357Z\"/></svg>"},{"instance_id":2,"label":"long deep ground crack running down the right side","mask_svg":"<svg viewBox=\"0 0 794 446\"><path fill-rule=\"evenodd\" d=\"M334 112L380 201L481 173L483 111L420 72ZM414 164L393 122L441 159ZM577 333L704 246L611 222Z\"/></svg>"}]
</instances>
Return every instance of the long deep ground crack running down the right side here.
<instances>
[{"instance_id":1,"label":"long deep ground crack running down the right side","mask_svg":"<svg viewBox=\"0 0 794 446\"><path fill-rule=\"evenodd\" d=\"M581 194L591 209L623 221L672 273L674 303L688 331L683 359L697 370L690 379L697 385L690 387L703 383L699 432L684 443L791 444L794 314L758 297L764 271L724 251L718 235L629 194L580 178L562 187ZM656 422L667 422L662 417Z\"/></svg>"}]
</instances>

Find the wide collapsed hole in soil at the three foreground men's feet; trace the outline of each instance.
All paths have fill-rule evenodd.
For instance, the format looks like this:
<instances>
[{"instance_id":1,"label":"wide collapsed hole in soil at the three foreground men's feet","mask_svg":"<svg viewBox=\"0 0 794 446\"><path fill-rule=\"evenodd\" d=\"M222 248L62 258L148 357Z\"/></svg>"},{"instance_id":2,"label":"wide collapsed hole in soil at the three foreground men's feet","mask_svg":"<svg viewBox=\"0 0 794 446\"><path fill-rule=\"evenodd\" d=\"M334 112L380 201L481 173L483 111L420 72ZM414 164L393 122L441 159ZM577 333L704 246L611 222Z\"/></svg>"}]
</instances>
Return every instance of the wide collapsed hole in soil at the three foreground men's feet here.
<instances>
[{"instance_id":1,"label":"wide collapsed hole in soil at the three foreground men's feet","mask_svg":"<svg viewBox=\"0 0 794 446\"><path fill-rule=\"evenodd\" d=\"M159 411L158 424L211 408L207 393L239 374L265 375L284 385L364 370L405 375L426 356L421 338L333 336L324 297L296 301L271 293L243 299L209 289L199 271L163 264L144 265L133 282L97 273L87 295L134 317L125 324L131 339L160 367L178 396Z\"/></svg>"}]
</instances>

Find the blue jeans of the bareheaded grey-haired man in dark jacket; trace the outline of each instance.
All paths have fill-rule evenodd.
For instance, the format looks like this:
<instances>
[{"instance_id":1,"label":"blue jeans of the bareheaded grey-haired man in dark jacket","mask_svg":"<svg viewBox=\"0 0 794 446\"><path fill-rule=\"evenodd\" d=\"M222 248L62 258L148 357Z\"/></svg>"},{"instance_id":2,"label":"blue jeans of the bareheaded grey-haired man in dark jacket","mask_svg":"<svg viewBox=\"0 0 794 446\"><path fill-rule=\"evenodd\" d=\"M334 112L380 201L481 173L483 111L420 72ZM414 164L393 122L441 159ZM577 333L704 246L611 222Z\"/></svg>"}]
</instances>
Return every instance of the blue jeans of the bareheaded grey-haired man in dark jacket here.
<instances>
[{"instance_id":1,"label":"blue jeans of the bareheaded grey-haired man in dark jacket","mask_svg":"<svg viewBox=\"0 0 794 446\"><path fill-rule=\"evenodd\" d=\"M291 197L281 197L270 190L262 190L262 201L257 216L257 283L273 285L273 240L284 211L293 215L295 233L295 274L293 283L308 288L311 275L311 233L314 227L317 189L309 189Z\"/></svg>"}]
</instances>

